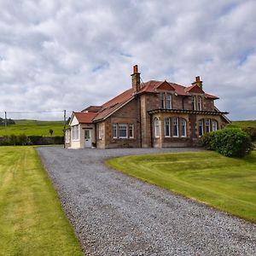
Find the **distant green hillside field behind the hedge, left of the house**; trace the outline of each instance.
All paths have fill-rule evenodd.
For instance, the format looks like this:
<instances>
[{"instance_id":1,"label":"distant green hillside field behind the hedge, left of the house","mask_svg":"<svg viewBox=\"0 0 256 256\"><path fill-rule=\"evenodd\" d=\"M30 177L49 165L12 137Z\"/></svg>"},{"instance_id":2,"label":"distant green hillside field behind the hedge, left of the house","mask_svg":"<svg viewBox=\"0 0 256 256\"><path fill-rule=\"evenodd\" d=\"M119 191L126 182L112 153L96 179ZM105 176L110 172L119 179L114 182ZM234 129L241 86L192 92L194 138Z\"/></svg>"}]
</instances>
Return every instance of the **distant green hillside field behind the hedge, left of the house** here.
<instances>
[{"instance_id":1,"label":"distant green hillside field behind the hedge, left of the house","mask_svg":"<svg viewBox=\"0 0 256 256\"><path fill-rule=\"evenodd\" d=\"M0 137L11 134L49 136L49 129L54 131L53 136L63 136L63 121L15 120L15 125L7 126L7 134L5 127L0 126Z\"/></svg>"}]
</instances>

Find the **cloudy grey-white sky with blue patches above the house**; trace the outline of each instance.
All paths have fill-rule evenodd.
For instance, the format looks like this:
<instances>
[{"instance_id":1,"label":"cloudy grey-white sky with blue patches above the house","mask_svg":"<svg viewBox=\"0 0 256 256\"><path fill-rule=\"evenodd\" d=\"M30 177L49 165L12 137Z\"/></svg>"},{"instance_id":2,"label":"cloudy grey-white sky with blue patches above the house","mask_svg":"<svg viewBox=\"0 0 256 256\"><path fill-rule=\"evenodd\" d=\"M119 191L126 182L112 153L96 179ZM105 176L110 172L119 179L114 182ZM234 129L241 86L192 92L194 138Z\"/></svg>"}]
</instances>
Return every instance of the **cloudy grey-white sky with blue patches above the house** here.
<instances>
[{"instance_id":1,"label":"cloudy grey-white sky with blue patches above the house","mask_svg":"<svg viewBox=\"0 0 256 256\"><path fill-rule=\"evenodd\" d=\"M255 14L255 0L0 0L0 116L102 104L137 64L144 82L200 75L230 119L256 119Z\"/></svg>"}]
</instances>

